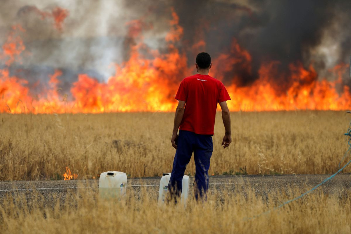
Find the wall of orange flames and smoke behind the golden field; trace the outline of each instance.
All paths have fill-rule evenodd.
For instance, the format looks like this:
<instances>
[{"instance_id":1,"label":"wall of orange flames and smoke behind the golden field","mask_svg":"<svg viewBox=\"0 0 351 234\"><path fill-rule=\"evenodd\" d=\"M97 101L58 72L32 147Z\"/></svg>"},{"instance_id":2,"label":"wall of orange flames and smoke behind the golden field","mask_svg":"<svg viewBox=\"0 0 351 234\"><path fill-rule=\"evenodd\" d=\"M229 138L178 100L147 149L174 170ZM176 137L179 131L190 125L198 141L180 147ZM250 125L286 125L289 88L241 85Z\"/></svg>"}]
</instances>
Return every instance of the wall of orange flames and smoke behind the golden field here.
<instances>
[{"instance_id":1,"label":"wall of orange flames and smoke behind the golden field","mask_svg":"<svg viewBox=\"0 0 351 234\"><path fill-rule=\"evenodd\" d=\"M86 19L74 4L19 2L2 8L15 18L4 16L0 32L2 113L173 112L179 82L195 72L199 51L212 55L210 75L226 85L231 111L351 108L350 33L340 26L350 16L339 11L350 4L343 1L331 9L327 2L307 5L304 13L319 11L304 14L305 21L295 19L298 4L290 3L276 6L293 8L283 14L267 2L207 1L206 18L188 15L191 4L141 9L98 1L85 5L97 14ZM88 30L99 16L99 28Z\"/></svg>"}]
</instances>

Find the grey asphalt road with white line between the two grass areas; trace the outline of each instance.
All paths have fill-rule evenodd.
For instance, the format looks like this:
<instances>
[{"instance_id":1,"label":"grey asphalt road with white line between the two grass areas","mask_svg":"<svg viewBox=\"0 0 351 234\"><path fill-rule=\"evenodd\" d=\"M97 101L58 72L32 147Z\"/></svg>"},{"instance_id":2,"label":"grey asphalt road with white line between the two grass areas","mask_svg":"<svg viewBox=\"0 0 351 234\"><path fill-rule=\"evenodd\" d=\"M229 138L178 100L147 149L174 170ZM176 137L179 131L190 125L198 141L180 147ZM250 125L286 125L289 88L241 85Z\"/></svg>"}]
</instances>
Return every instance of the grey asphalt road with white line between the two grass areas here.
<instances>
[{"instance_id":1,"label":"grey asphalt road with white line between the two grass areas","mask_svg":"<svg viewBox=\"0 0 351 234\"><path fill-rule=\"evenodd\" d=\"M211 176L209 193L239 193L246 196L251 190L256 195L269 195L281 192L289 196L300 195L321 183L330 175L233 175ZM131 178L127 180L129 196L140 198L140 192L146 190L152 198L158 199L160 177ZM194 178L190 177L189 197L193 194ZM98 180L69 180L69 181L0 181L0 198L7 195L13 197L24 195L27 199L40 196L48 203L55 203L57 199L64 202L68 194L85 191L92 195L98 194ZM317 192L317 191L316 191ZM351 174L336 175L332 180L319 187L318 192L325 194L347 194L351 192Z\"/></svg>"}]
</instances>

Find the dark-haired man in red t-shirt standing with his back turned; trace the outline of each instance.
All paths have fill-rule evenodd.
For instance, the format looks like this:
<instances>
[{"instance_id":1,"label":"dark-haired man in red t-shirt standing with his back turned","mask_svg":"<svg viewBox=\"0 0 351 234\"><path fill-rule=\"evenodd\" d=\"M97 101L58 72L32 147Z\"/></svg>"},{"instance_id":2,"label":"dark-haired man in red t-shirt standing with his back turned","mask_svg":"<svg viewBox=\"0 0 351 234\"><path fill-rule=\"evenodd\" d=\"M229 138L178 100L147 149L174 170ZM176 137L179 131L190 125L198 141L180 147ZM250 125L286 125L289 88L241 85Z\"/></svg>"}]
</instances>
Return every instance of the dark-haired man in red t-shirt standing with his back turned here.
<instances>
[{"instance_id":1,"label":"dark-haired man in red t-shirt standing with his back turned","mask_svg":"<svg viewBox=\"0 0 351 234\"><path fill-rule=\"evenodd\" d=\"M176 94L179 103L174 117L171 142L177 151L168 184L170 198L175 202L180 197L184 172L193 152L196 165L194 195L197 201L207 199L208 169L213 151L212 135L217 103L222 108L225 128L223 148L228 147L232 141L230 112L226 102L230 97L223 83L208 75L212 66L210 55L205 52L199 53L195 66L198 74L184 78Z\"/></svg>"}]
</instances>

